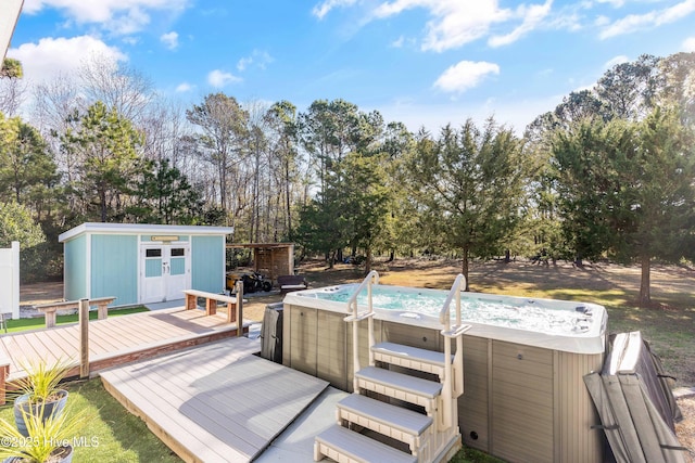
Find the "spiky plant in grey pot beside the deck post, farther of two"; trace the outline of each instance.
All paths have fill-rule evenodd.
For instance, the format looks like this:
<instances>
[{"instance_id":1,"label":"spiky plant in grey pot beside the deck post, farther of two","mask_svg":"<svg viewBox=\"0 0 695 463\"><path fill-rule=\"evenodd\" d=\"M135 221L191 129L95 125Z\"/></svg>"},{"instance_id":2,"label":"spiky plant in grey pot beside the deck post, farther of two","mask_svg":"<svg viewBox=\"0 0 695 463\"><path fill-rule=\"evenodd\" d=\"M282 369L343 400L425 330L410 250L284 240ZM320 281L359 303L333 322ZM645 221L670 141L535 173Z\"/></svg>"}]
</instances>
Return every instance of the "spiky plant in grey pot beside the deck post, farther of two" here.
<instances>
[{"instance_id":1,"label":"spiky plant in grey pot beside the deck post, farther of two","mask_svg":"<svg viewBox=\"0 0 695 463\"><path fill-rule=\"evenodd\" d=\"M27 436L25 416L39 414L40 416L60 415L67 402L67 390L60 388L60 383L70 371L67 361L59 360L52 365L36 362L23 365L27 372L25 377L13 381L9 389L14 399L14 421L17 429Z\"/></svg>"}]
</instances>

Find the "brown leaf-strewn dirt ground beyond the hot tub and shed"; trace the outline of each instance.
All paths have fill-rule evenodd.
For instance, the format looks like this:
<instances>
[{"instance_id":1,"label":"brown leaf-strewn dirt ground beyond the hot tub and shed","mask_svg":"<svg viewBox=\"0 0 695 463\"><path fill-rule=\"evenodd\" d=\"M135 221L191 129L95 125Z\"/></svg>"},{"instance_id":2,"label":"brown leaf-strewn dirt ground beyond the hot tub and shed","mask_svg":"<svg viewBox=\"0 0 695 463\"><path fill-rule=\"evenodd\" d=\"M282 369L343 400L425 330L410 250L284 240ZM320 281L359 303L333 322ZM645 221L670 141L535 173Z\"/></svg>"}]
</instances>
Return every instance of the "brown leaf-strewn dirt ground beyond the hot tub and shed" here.
<instances>
[{"instance_id":1,"label":"brown leaf-strewn dirt ground beyond the hot tub and shed","mask_svg":"<svg viewBox=\"0 0 695 463\"><path fill-rule=\"evenodd\" d=\"M380 282L402 286L448 288L460 272L460 261L400 259L392 262L378 261ZM323 261L302 262L299 272L304 274L309 287L320 287L340 283L362 281L364 269L350 265L337 265L328 269ZM538 297L572 299L581 297L583 291L591 290L603 298L599 304L607 308L618 307L609 314L611 322L624 330L640 330L652 343L653 349L662 357L667 371L677 370L679 388L695 387L695 355L693 333L695 333L695 270L674 266L655 266L652 271L652 297L659 301L649 309L630 308L634 306L640 288L640 269L616 265L574 267L568 262L556 266L533 265L529 261L511 263L482 262L470 267L471 291ZM596 293L598 292L598 293ZM61 282L23 285L21 305L31 306L63 298ZM266 305L282 300L279 292L249 294L245 296L244 318L261 322ZM682 339L659 337L660 324L682 326ZM669 371L670 372L670 371ZM670 372L672 373L672 372ZM682 446L690 449L690 461L695 462L695 396L685 394L678 399L684 420L677 424L677 434Z\"/></svg>"}]
</instances>

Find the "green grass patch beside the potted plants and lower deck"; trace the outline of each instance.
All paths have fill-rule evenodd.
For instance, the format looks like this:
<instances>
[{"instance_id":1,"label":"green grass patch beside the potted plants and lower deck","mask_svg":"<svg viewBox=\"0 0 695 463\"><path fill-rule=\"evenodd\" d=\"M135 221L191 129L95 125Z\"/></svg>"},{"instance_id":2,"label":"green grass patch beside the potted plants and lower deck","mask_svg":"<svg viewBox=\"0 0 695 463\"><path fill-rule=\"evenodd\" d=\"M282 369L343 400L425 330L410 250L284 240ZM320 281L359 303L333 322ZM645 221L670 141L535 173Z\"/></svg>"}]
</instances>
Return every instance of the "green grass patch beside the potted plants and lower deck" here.
<instances>
[{"instance_id":1,"label":"green grass patch beside the potted plants and lower deck","mask_svg":"<svg viewBox=\"0 0 695 463\"><path fill-rule=\"evenodd\" d=\"M144 422L128 413L102 386L101 380L65 383L70 391L68 413L84 410L88 419L75 436L74 461L101 462L162 462L179 463ZM0 409L0 417L14 423L11 406Z\"/></svg>"}]
</instances>

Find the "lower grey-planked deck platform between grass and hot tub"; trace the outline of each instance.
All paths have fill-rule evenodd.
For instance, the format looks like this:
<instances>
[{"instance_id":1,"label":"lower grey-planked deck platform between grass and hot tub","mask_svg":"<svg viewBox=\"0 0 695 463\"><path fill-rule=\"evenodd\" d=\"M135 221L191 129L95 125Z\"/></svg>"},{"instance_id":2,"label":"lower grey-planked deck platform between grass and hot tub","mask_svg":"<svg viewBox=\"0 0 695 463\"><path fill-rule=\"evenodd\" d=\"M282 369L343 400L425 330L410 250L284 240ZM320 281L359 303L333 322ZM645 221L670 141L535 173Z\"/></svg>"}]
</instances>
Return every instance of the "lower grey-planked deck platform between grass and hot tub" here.
<instances>
[{"instance_id":1,"label":"lower grey-planked deck platform between grass and hot tub","mask_svg":"<svg viewBox=\"0 0 695 463\"><path fill-rule=\"evenodd\" d=\"M187 462L251 461L328 383L235 337L101 373L106 389Z\"/></svg>"}]
</instances>

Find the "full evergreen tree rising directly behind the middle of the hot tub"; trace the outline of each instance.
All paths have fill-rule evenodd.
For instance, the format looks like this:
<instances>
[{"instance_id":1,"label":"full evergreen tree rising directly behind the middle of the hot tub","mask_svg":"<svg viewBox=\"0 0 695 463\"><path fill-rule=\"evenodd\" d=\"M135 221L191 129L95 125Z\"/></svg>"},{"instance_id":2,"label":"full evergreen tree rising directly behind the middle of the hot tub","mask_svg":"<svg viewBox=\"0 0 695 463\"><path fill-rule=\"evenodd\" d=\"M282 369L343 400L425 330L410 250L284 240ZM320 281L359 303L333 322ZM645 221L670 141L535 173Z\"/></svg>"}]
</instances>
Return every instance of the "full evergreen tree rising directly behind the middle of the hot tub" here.
<instances>
[{"instance_id":1,"label":"full evergreen tree rising directly behind the middle of the hot tub","mask_svg":"<svg viewBox=\"0 0 695 463\"><path fill-rule=\"evenodd\" d=\"M527 176L522 143L489 119L482 129L467 120L440 139L420 140L410 159L412 195L421 205L426 230L468 259L492 257L511 237L520 219Z\"/></svg>"}]
</instances>

